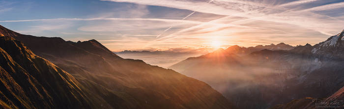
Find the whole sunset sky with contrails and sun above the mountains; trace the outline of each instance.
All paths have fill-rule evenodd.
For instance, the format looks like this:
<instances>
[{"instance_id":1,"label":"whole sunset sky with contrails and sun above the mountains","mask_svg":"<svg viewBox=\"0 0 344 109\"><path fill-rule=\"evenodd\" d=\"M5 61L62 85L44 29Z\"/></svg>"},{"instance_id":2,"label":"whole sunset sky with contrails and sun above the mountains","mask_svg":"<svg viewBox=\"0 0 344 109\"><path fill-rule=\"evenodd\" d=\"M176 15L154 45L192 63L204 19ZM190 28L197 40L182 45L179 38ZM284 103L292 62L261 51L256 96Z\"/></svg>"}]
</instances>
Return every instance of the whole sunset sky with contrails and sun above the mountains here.
<instances>
[{"instance_id":1,"label":"whole sunset sky with contrails and sun above the mountains","mask_svg":"<svg viewBox=\"0 0 344 109\"><path fill-rule=\"evenodd\" d=\"M344 0L0 0L0 25L95 39L112 51L317 44L344 29Z\"/></svg>"}]
</instances>

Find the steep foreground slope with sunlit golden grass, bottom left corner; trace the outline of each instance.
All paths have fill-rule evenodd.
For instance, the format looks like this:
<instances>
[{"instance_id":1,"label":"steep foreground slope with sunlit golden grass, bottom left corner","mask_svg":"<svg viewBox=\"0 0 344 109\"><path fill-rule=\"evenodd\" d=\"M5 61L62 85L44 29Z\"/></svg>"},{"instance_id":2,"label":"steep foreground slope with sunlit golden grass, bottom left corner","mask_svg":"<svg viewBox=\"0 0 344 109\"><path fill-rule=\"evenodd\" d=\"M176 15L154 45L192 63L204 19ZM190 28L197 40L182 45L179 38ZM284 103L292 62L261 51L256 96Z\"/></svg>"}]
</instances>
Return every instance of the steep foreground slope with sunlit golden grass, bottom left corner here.
<instances>
[{"instance_id":1,"label":"steep foreground slope with sunlit golden grass, bottom left corner","mask_svg":"<svg viewBox=\"0 0 344 109\"><path fill-rule=\"evenodd\" d=\"M111 109L101 96L108 91L89 91L72 75L8 36L0 37L0 75L0 107L5 109Z\"/></svg>"}]
</instances>

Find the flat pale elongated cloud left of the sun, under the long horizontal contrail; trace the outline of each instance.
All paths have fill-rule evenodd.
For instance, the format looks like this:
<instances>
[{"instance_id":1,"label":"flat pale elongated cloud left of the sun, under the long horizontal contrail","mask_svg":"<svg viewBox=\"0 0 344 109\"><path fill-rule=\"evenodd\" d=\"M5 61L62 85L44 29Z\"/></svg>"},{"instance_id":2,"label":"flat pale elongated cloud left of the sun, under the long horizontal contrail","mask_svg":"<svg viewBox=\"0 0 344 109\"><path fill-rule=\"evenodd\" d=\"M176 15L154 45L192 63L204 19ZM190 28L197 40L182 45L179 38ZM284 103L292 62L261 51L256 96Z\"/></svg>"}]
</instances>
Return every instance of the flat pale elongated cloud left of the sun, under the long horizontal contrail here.
<instances>
[{"instance_id":1,"label":"flat pale elongated cloud left of the sun, under the long horizontal contrail","mask_svg":"<svg viewBox=\"0 0 344 109\"><path fill-rule=\"evenodd\" d=\"M197 21L169 20L169 19L111 19L111 21L90 21L79 27L81 31L105 31L105 32L153 32L157 29L173 27L186 27L193 24L200 24ZM171 28L170 28L171 29ZM163 31L163 30L161 30ZM157 31L158 32L158 31Z\"/></svg>"}]
</instances>

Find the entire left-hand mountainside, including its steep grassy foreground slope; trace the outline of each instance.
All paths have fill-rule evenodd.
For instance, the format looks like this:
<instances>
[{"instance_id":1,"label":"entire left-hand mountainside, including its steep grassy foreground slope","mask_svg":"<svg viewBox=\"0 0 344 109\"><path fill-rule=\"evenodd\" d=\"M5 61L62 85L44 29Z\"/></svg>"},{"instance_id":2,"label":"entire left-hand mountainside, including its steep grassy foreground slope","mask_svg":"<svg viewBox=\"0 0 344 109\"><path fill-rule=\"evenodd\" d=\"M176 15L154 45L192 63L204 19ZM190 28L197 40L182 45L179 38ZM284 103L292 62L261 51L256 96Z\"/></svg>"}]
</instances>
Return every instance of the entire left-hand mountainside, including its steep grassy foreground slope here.
<instances>
[{"instance_id":1,"label":"entire left-hand mountainside, including its steep grassy foreground slope","mask_svg":"<svg viewBox=\"0 0 344 109\"><path fill-rule=\"evenodd\" d=\"M201 81L141 60L122 59L95 40L66 42L0 28L1 80L6 80L0 83L3 108L233 108Z\"/></svg>"}]
</instances>

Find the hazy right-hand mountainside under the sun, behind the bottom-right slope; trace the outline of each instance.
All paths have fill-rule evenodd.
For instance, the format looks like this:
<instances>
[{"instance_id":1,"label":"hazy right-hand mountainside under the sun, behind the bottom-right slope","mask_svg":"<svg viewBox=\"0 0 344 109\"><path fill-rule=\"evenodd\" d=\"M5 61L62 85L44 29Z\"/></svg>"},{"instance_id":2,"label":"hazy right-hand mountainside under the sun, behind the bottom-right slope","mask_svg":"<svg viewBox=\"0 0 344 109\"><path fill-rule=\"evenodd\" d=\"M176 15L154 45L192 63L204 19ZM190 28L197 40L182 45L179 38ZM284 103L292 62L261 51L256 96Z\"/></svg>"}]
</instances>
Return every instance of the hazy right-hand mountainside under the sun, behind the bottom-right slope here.
<instances>
[{"instance_id":1,"label":"hazy right-hand mountainside under the sun, behind the bottom-right slope","mask_svg":"<svg viewBox=\"0 0 344 109\"><path fill-rule=\"evenodd\" d=\"M208 83L242 109L325 98L344 86L343 34L290 50L231 46L209 59L188 58L170 68Z\"/></svg>"}]
</instances>

